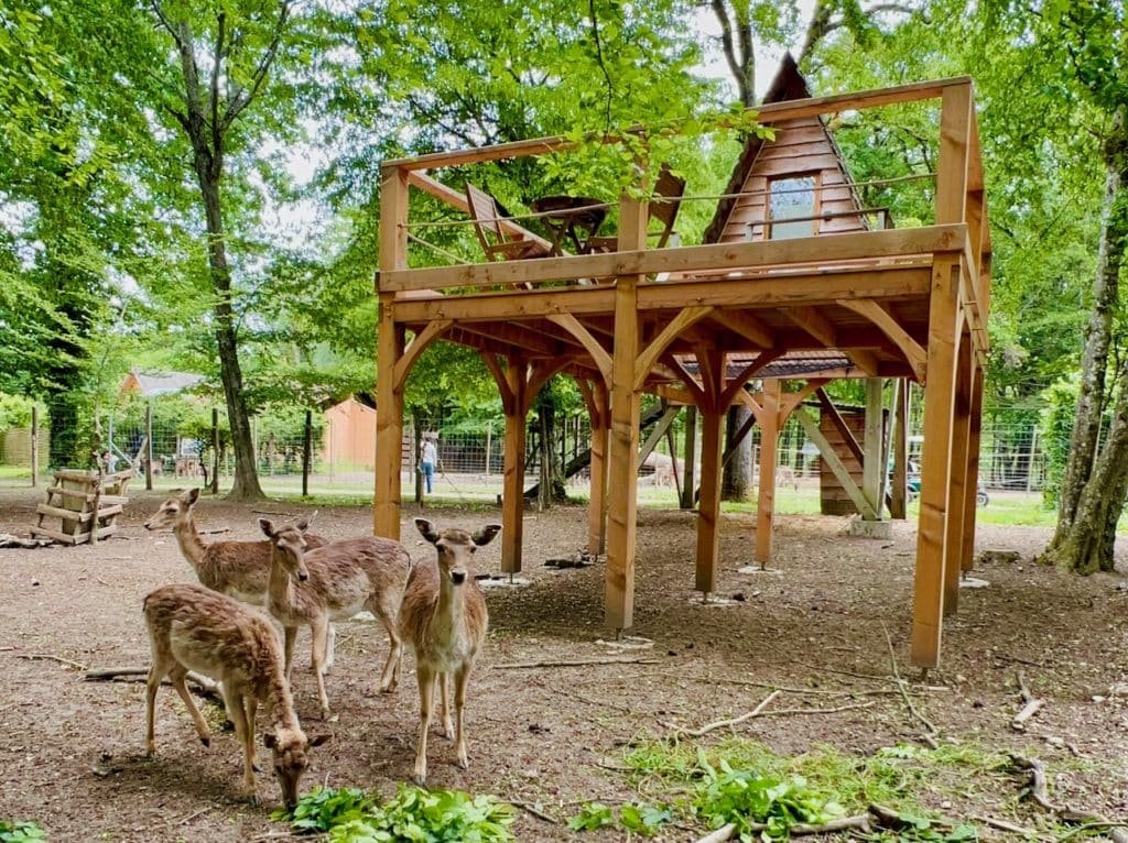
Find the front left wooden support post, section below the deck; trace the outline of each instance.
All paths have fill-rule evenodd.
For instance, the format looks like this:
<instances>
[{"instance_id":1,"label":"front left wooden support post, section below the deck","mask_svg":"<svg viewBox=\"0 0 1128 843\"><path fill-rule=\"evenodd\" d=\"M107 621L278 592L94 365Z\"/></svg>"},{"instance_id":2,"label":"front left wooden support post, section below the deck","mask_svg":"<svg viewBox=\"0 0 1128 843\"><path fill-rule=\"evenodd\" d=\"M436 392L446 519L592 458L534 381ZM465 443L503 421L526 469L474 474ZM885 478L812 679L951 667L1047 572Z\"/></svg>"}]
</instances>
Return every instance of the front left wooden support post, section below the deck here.
<instances>
[{"instance_id":1,"label":"front left wooden support post, section below the deck","mask_svg":"<svg viewBox=\"0 0 1128 843\"><path fill-rule=\"evenodd\" d=\"M390 293L380 293L376 363L376 535L399 540L404 454L404 393L396 389L395 365L404 353L404 330L396 325Z\"/></svg>"}]
</instances>

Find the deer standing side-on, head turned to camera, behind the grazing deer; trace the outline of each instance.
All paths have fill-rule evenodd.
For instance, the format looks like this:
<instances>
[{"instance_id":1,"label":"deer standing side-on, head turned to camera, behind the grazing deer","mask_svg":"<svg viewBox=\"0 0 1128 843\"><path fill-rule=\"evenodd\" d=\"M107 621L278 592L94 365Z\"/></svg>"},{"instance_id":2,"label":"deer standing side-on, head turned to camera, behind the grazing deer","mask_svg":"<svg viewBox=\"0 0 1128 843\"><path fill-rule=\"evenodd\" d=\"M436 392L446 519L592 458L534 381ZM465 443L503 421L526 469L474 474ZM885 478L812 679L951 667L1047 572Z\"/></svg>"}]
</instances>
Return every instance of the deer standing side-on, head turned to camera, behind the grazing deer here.
<instances>
[{"instance_id":1,"label":"deer standing side-on, head turned to camera, behind the grazing deer","mask_svg":"<svg viewBox=\"0 0 1128 843\"><path fill-rule=\"evenodd\" d=\"M314 674L321 715L329 717L320 654L331 620L347 620L370 611L388 630L390 648L380 674L379 690L395 691L399 683L403 645L397 620L411 557L390 539L367 536L333 542L306 552L302 532L292 525L275 527L266 518L258 525L271 540L271 578L267 607L285 630L285 674L293 663L298 627L309 624L314 633Z\"/></svg>"}]
</instances>

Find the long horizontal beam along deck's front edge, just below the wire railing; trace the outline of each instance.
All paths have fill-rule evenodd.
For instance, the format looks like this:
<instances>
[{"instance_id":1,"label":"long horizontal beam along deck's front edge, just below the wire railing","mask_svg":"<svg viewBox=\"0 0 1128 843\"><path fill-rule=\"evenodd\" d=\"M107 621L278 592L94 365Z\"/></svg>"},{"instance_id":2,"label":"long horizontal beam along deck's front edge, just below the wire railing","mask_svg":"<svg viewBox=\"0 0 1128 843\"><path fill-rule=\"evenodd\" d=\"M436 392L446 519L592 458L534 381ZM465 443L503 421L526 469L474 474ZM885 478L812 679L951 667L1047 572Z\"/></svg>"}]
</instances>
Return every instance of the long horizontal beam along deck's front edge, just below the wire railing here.
<instances>
[{"instance_id":1,"label":"long horizontal beam along deck's front edge, just below the wire railing","mask_svg":"<svg viewBox=\"0 0 1128 843\"><path fill-rule=\"evenodd\" d=\"M826 272L836 261L933 255L962 249L968 229L962 220L951 225L918 229L887 229L834 237L800 237L790 240L757 240L677 249L623 250L598 255L566 255L538 260L506 260L500 264L468 264L420 269L400 268L380 272L380 290L439 291L448 287L513 286L547 281L606 278L614 275L653 275L755 267L809 267ZM817 257L812 257L817 256ZM911 267L909 267L911 268ZM858 272L857 266L844 270ZM725 281L725 278L713 278ZM728 281L732 282L733 278ZM757 279L763 281L763 279ZM666 286L684 282L651 282ZM569 293L593 292L600 287L580 287ZM559 292L559 291L555 291ZM688 304L689 302L687 302Z\"/></svg>"}]
</instances>

